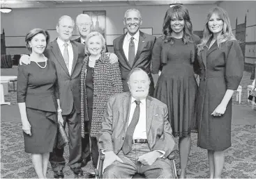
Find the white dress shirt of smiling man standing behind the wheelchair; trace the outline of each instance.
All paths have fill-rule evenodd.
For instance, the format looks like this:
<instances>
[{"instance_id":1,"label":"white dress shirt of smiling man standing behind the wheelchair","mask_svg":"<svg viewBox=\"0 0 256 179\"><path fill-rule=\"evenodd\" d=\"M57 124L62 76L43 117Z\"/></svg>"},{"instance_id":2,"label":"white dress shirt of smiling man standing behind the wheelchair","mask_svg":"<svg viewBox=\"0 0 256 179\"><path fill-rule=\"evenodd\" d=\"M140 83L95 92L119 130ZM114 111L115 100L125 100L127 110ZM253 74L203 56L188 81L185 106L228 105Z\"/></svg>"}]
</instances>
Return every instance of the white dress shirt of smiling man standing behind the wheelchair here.
<instances>
[{"instance_id":1,"label":"white dress shirt of smiling man standing behind the wheelchair","mask_svg":"<svg viewBox=\"0 0 256 179\"><path fill-rule=\"evenodd\" d=\"M126 34L126 37L124 37L123 40L123 51L124 54L126 55L127 60L129 59L129 44L130 44L130 38L134 37L134 44L135 44L135 56L137 53L138 45L139 45L139 38L140 38L140 31L137 31L135 35L131 36L129 33Z\"/></svg>"}]
</instances>

